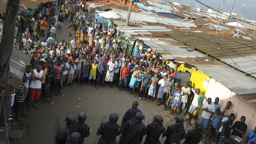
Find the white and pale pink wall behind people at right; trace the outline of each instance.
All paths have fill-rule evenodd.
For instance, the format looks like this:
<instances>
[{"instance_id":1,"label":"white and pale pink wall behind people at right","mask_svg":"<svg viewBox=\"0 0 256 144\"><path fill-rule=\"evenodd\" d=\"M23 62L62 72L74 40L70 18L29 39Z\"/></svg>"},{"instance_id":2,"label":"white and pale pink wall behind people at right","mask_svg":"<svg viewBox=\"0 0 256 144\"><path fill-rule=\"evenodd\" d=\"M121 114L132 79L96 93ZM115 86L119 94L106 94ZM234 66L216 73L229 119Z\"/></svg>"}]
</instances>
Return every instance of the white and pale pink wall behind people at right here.
<instances>
[{"instance_id":1,"label":"white and pale pink wall behind people at right","mask_svg":"<svg viewBox=\"0 0 256 144\"><path fill-rule=\"evenodd\" d=\"M219 104L221 104L221 107L225 106L227 104L227 101L232 102L231 109L233 110L234 113L236 113L235 121L239 121L242 115L246 117L245 124L247 124L247 131L243 135L243 138L245 138L248 130L252 130L256 126L255 104L246 103L246 101L242 100L242 98L236 95L236 93L231 92L225 86L221 85L221 83L218 83L217 81L211 78L209 81L208 88L206 90L205 99L212 98L212 101L214 101L216 97L220 99ZM202 110L200 110L200 115L202 115L202 113Z\"/></svg>"}]
</instances>

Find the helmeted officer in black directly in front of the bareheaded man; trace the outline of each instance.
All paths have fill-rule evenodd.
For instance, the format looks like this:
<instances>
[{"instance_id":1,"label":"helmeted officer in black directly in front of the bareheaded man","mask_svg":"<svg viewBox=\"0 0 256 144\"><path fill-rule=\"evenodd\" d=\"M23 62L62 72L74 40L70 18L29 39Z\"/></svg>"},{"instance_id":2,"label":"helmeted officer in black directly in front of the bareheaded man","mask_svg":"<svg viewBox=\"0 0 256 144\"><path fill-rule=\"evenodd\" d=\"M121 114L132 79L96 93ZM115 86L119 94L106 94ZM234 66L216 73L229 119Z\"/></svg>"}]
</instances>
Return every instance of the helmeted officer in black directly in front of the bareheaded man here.
<instances>
[{"instance_id":1,"label":"helmeted officer in black directly in front of the bareheaded man","mask_svg":"<svg viewBox=\"0 0 256 144\"><path fill-rule=\"evenodd\" d=\"M142 113L136 113L134 118L125 122L122 128L122 136L119 144L141 143L146 131L145 125L142 123L144 116Z\"/></svg>"}]
</instances>

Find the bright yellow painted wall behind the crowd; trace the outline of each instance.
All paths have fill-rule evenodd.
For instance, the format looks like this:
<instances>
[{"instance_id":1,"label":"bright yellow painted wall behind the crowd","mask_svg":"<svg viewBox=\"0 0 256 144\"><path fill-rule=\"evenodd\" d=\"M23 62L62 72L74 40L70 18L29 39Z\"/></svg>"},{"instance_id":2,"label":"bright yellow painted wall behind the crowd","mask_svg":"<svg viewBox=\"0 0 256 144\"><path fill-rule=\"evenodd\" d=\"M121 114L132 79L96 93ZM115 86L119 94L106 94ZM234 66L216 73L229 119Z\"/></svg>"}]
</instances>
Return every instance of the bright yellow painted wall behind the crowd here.
<instances>
[{"instance_id":1,"label":"bright yellow painted wall behind the crowd","mask_svg":"<svg viewBox=\"0 0 256 144\"><path fill-rule=\"evenodd\" d=\"M202 71L194 68L188 64L180 64L177 68L177 71L189 71L191 73L190 81L192 81L193 88L200 89L200 93L204 96L207 89L203 89L203 81L206 80L206 77L209 77L207 74L204 74ZM200 109L197 109L194 112L195 116L198 116Z\"/></svg>"}]
</instances>

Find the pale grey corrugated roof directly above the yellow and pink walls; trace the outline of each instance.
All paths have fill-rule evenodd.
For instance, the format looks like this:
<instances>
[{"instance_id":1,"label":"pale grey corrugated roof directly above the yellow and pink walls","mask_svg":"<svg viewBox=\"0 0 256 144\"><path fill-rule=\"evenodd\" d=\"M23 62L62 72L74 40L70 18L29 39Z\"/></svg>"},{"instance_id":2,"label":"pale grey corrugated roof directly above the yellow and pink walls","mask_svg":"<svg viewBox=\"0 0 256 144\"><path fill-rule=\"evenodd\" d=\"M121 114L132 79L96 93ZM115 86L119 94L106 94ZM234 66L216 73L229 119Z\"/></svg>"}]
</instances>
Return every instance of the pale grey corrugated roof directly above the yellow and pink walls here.
<instances>
[{"instance_id":1,"label":"pale grey corrugated roof directly above the yellow and pink walls","mask_svg":"<svg viewBox=\"0 0 256 144\"><path fill-rule=\"evenodd\" d=\"M227 65L194 65L237 95L256 93L256 80ZM254 98L255 99L255 96Z\"/></svg>"}]
</instances>

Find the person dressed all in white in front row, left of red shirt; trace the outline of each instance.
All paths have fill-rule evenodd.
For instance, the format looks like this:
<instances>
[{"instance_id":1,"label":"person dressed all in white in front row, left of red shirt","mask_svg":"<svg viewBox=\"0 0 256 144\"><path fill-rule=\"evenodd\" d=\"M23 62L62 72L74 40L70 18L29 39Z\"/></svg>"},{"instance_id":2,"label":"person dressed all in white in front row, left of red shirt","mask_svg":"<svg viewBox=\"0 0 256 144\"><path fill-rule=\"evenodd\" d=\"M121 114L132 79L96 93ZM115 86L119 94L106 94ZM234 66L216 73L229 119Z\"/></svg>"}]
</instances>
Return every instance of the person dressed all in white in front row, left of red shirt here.
<instances>
[{"instance_id":1,"label":"person dressed all in white in front row, left of red shirt","mask_svg":"<svg viewBox=\"0 0 256 144\"><path fill-rule=\"evenodd\" d=\"M107 74L105 77L105 81L110 82L110 88L112 88L112 82L114 80L114 74L115 74L116 68L117 68L117 65L115 63L115 58L112 58L112 61L107 63Z\"/></svg>"}]
</instances>

